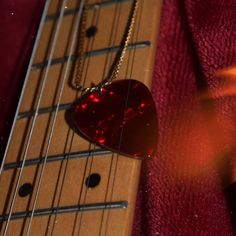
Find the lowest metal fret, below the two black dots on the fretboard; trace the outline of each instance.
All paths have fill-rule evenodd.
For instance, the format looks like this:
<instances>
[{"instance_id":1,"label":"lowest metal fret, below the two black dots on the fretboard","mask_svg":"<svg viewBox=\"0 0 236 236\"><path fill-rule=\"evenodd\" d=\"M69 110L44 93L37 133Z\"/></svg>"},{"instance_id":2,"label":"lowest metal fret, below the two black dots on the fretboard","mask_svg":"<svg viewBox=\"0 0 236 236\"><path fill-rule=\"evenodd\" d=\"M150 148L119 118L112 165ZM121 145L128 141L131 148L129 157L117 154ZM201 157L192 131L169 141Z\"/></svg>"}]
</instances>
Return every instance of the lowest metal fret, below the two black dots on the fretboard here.
<instances>
[{"instance_id":1,"label":"lowest metal fret, below the two black dots on the fretboard","mask_svg":"<svg viewBox=\"0 0 236 236\"><path fill-rule=\"evenodd\" d=\"M45 208L35 210L34 216L48 216L55 214L68 214L74 212L84 212L84 211L98 211L98 210L115 210L115 209L126 209L128 208L127 201L117 201L117 202L104 202L104 203L92 203L83 205L73 205L73 206L63 206L58 208ZM32 211L15 212L11 216L11 220L17 220L22 218L29 218L33 214ZM9 215L0 216L0 222L7 221Z\"/></svg>"}]
</instances>

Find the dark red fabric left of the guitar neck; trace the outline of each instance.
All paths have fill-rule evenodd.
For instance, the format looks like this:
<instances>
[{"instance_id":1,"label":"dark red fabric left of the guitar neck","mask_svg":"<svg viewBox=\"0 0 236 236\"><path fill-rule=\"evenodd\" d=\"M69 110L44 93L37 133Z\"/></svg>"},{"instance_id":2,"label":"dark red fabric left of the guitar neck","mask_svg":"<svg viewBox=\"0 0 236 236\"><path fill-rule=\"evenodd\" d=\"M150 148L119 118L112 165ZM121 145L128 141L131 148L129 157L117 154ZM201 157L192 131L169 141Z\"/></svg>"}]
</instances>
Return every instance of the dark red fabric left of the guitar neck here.
<instances>
[{"instance_id":1,"label":"dark red fabric left of the guitar neck","mask_svg":"<svg viewBox=\"0 0 236 236\"><path fill-rule=\"evenodd\" d=\"M18 102L42 7L42 0L0 2L0 153Z\"/></svg>"}]
</instances>

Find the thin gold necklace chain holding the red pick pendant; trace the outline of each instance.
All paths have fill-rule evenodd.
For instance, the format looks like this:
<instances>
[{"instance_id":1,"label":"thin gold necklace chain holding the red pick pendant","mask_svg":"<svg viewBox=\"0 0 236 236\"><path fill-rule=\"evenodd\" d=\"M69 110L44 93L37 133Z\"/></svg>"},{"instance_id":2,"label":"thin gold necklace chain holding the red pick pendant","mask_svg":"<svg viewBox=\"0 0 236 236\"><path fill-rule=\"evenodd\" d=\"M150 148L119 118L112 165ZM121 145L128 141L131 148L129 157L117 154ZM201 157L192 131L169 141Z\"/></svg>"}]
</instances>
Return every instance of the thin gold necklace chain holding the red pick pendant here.
<instances>
[{"instance_id":1,"label":"thin gold necklace chain holding the red pick pendant","mask_svg":"<svg viewBox=\"0 0 236 236\"><path fill-rule=\"evenodd\" d=\"M87 1L86 1L87 5ZM131 17L129 19L129 24L128 24L128 30L126 32L126 36L124 38L124 43L122 45L122 49L119 53L119 57L117 59L117 62L115 63L115 66L108 78L104 79L101 81L99 84L94 85L92 87L83 87L81 86L81 77L82 77L82 64L83 64L83 57L84 57L84 51L83 51L83 44L84 44L84 38L85 38L85 23L86 23L86 17L87 17L87 7L84 8L82 20L81 20L81 31L80 31L80 43L79 43L79 52L78 52L78 61L76 64L76 77L74 80L74 86L81 92L87 93L87 92L93 92L93 91L101 91L102 87L107 86L112 83L113 80L115 80L120 72L121 65L124 61L125 54L127 52L132 31L134 28L134 23L135 23L135 18L137 15L138 11L138 5L139 5L139 0L134 0L132 10L131 10Z\"/></svg>"}]
</instances>

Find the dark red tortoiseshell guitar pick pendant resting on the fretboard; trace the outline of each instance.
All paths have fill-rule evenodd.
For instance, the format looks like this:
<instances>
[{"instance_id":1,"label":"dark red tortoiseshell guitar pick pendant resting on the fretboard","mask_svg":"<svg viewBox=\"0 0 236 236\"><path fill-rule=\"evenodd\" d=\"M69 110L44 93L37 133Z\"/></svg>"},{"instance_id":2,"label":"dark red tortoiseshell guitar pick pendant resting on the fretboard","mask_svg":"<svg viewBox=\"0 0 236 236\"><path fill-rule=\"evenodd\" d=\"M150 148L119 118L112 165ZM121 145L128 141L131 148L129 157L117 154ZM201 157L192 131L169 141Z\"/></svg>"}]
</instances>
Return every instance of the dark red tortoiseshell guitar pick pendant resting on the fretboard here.
<instances>
[{"instance_id":1,"label":"dark red tortoiseshell guitar pick pendant resting on the fretboard","mask_svg":"<svg viewBox=\"0 0 236 236\"><path fill-rule=\"evenodd\" d=\"M111 151L146 159L157 150L157 113L141 82L117 80L81 98L75 125L92 142Z\"/></svg>"}]
</instances>

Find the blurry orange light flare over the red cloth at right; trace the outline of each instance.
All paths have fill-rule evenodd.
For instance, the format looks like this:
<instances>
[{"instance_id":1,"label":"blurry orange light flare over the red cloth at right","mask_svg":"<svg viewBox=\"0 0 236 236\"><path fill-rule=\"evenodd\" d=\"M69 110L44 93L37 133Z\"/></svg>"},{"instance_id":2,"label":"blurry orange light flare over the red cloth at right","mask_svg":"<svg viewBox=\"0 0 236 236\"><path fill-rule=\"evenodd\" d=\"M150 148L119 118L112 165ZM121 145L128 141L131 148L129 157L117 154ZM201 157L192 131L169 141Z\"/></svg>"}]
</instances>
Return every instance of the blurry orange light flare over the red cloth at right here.
<instances>
[{"instance_id":1,"label":"blurry orange light flare over the red cloth at right","mask_svg":"<svg viewBox=\"0 0 236 236\"><path fill-rule=\"evenodd\" d=\"M181 137L176 140L176 130L170 130L168 136L169 154L174 163L171 167L187 179L209 173L209 168L216 168L220 175L231 171L224 168L230 161L235 150L236 117L225 114L218 109L214 99L236 96L236 66L224 68L216 73L221 79L217 89L197 95L197 99L190 107L191 116L186 121L186 114L178 113L173 129L180 132ZM205 100L212 101L204 103ZM224 101L224 105L226 102ZM181 109L179 109L181 110ZM187 116L188 117L188 116ZM173 136L174 140L170 138Z\"/></svg>"}]
</instances>

